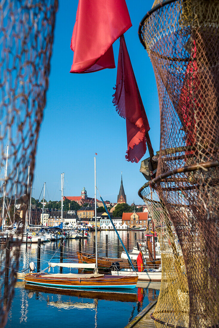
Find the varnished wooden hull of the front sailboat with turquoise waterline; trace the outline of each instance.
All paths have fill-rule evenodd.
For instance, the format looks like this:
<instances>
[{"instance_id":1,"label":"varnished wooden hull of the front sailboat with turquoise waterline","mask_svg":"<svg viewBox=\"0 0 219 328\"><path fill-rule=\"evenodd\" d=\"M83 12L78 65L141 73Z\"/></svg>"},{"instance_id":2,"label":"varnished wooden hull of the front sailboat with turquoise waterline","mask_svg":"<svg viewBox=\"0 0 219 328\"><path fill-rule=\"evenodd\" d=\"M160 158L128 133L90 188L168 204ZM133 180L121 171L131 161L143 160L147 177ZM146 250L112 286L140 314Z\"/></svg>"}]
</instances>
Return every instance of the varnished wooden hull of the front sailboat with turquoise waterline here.
<instances>
[{"instance_id":1,"label":"varnished wooden hull of the front sailboat with turquoise waterline","mask_svg":"<svg viewBox=\"0 0 219 328\"><path fill-rule=\"evenodd\" d=\"M51 286L59 288L135 288L138 277L91 277L91 278L75 278L75 277L53 277L49 274L26 274L25 282L39 286Z\"/></svg>"}]
</instances>

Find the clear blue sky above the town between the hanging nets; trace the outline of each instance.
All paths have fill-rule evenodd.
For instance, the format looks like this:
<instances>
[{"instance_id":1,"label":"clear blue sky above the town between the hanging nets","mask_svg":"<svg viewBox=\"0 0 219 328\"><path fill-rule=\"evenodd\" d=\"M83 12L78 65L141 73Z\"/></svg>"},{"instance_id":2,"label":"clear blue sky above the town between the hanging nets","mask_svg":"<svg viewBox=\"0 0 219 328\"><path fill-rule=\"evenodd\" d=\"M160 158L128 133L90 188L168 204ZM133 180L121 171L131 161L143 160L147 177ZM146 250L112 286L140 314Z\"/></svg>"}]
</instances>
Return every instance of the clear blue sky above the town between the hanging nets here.
<instances>
[{"instance_id":1,"label":"clear blue sky above the town between the hanging nets","mask_svg":"<svg viewBox=\"0 0 219 328\"><path fill-rule=\"evenodd\" d=\"M133 27L125 33L135 77L148 116L154 151L159 149L160 119L156 81L146 50L138 38L142 17L153 1L126 0ZM69 73L73 52L70 40L78 1L61 0L56 18L49 89L36 156L33 196L38 198L46 182L46 200L61 199L60 175L65 173L64 195L81 195L83 187L94 196L94 155L97 153L98 189L104 200L116 202L121 171L127 202L142 204L137 195L146 182L140 162L125 160L126 123L112 104L116 70L87 74ZM114 45L117 65L119 40ZM148 151L142 158L148 157ZM48 191L48 192L47 192ZM97 197L99 194L97 194ZM41 197L40 197L41 198Z\"/></svg>"}]
</instances>

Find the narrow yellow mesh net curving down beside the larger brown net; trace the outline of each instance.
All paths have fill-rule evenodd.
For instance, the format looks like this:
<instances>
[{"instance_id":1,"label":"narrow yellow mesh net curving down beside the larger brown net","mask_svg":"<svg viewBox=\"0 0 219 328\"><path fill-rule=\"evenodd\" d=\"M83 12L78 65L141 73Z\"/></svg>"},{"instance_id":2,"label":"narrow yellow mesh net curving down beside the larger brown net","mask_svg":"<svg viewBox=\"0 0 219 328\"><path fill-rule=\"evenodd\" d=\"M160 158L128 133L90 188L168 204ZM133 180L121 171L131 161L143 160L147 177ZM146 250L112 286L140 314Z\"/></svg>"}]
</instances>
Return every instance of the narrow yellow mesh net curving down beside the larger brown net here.
<instances>
[{"instance_id":1,"label":"narrow yellow mesh net curving down beside the larger brown net","mask_svg":"<svg viewBox=\"0 0 219 328\"><path fill-rule=\"evenodd\" d=\"M155 190L146 183L138 192L152 216L160 244L162 278L153 318L157 327L188 327L189 297L185 263L176 230ZM165 304L165 308L163 307Z\"/></svg>"}]
</instances>

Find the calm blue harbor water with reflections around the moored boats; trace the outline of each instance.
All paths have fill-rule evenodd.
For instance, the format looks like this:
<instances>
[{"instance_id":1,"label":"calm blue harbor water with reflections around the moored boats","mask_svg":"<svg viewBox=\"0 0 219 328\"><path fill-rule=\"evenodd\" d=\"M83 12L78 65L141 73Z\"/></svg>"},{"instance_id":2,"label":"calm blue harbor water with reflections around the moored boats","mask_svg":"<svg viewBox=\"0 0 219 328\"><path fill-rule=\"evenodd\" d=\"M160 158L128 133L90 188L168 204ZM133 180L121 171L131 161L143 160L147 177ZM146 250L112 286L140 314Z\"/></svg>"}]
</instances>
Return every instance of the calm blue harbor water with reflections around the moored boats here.
<instances>
[{"instance_id":1,"label":"calm blue harbor water with reflections around the moored boats","mask_svg":"<svg viewBox=\"0 0 219 328\"><path fill-rule=\"evenodd\" d=\"M84 239L82 251L93 254L93 234ZM108 235L108 257L117 257L117 235L115 231L102 231L97 233L98 255L106 254L106 234ZM119 232L125 246L127 245L127 231ZM134 245L134 232L129 231L129 248ZM137 239L142 236L137 232ZM77 261L79 240L64 241L63 262ZM120 254L123 248L120 245ZM5 252L5 250L0 250ZM11 253L16 252L12 248ZM31 261L37 265L37 244L22 244L20 251L19 271L29 267ZM41 244L40 269L48 267L48 262L60 261L60 242L46 242ZM70 269L63 268L63 273ZM54 268L54 273L58 268ZM71 272L77 272L75 269ZM139 282L131 290L61 290L45 289L44 287L24 286L18 281L12 301L6 327L32 327L49 326L65 327L124 327L142 309L144 309L159 294L159 283Z\"/></svg>"}]
</instances>

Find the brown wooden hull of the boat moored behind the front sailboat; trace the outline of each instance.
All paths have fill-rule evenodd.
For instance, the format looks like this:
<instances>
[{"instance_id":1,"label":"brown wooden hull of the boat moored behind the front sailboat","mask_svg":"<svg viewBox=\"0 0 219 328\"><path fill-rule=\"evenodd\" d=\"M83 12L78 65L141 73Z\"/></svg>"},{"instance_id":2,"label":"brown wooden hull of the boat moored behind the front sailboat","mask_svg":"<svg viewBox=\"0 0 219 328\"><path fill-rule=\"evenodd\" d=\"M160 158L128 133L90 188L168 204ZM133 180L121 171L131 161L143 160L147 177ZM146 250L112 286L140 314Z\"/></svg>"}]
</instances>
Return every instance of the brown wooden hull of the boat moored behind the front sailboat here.
<instances>
[{"instance_id":1,"label":"brown wooden hull of the boat moored behind the front sailboat","mask_svg":"<svg viewBox=\"0 0 219 328\"><path fill-rule=\"evenodd\" d=\"M78 262L79 263L96 263L95 256L85 254L85 253L77 253L78 255ZM106 272L110 271L109 268L113 262L119 262L120 268L129 268L128 260L121 259L121 258L110 258L110 257L102 257L97 256L97 265L99 272ZM158 269L161 261L147 261L146 266ZM133 261L134 268L137 269L137 261Z\"/></svg>"}]
</instances>

